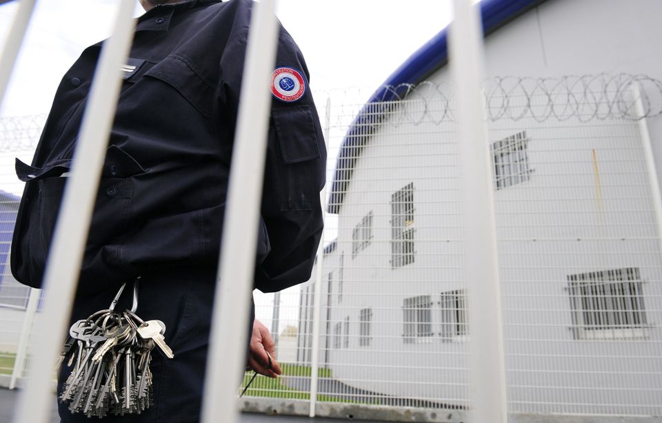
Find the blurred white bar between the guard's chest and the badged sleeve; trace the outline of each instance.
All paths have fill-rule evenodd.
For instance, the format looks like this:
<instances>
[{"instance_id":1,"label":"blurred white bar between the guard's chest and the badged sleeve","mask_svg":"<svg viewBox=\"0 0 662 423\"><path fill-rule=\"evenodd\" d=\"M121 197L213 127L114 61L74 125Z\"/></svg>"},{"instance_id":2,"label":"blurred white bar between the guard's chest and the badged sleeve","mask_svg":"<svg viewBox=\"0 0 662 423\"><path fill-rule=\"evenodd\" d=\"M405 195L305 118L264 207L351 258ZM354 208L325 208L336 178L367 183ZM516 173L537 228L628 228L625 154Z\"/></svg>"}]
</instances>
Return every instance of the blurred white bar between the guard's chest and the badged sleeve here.
<instances>
[{"instance_id":1,"label":"blurred white bar between the guard's chest and the badged sleeve","mask_svg":"<svg viewBox=\"0 0 662 423\"><path fill-rule=\"evenodd\" d=\"M219 280L214 295L202 421L237 422L237 383L245 367L246 323L269 122L269 75L276 60L274 0L253 3L234 138L228 208L223 222Z\"/></svg>"}]
</instances>

